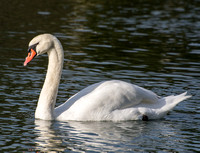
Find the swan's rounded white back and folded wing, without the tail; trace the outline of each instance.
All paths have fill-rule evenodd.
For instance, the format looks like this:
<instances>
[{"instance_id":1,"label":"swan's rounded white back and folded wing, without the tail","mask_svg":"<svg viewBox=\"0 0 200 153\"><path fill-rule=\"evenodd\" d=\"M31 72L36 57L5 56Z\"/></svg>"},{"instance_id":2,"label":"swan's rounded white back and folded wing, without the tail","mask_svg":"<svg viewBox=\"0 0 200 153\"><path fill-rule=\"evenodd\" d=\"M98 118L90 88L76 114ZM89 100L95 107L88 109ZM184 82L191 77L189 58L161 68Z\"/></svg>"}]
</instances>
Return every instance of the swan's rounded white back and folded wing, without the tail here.
<instances>
[{"instance_id":1,"label":"swan's rounded white back and folded wing, without the tail","mask_svg":"<svg viewBox=\"0 0 200 153\"><path fill-rule=\"evenodd\" d=\"M55 113L59 120L106 120L114 110L157 101L157 95L149 90L124 81L111 80L81 90L57 107ZM95 116L98 117L94 119Z\"/></svg>"}]
</instances>

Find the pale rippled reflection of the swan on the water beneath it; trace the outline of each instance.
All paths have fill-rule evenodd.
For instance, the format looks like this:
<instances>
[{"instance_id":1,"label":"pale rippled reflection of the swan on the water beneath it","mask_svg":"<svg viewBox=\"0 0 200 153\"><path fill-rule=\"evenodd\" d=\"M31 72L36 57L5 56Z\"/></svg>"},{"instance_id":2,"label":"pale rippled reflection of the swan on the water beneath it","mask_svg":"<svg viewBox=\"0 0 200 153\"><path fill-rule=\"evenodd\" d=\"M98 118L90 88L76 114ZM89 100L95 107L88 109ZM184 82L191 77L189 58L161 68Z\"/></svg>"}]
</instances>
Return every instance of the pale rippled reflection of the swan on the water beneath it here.
<instances>
[{"instance_id":1,"label":"pale rippled reflection of the swan on the water beneath it","mask_svg":"<svg viewBox=\"0 0 200 153\"><path fill-rule=\"evenodd\" d=\"M164 122L54 122L35 120L36 150L128 151L166 145L175 129ZM158 134L159 133L159 134ZM156 138L155 136L160 136ZM149 138L154 140L146 142ZM172 137L173 138L173 137ZM170 140L173 141L173 140Z\"/></svg>"}]
</instances>

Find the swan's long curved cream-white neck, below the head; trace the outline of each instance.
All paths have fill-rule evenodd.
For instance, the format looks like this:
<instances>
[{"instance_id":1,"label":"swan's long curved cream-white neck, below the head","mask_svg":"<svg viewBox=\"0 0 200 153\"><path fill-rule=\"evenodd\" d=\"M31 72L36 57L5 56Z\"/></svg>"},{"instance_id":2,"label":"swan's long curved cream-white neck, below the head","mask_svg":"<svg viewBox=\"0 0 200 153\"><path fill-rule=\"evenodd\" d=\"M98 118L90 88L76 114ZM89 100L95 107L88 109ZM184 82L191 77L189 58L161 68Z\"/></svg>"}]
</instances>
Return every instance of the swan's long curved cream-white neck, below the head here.
<instances>
[{"instance_id":1,"label":"swan's long curved cream-white neck, below the head","mask_svg":"<svg viewBox=\"0 0 200 153\"><path fill-rule=\"evenodd\" d=\"M64 59L63 49L59 40L56 38L54 39L54 47L52 47L47 53L49 57L49 64L46 79L44 81L35 111L35 118L53 120L54 107Z\"/></svg>"}]
</instances>

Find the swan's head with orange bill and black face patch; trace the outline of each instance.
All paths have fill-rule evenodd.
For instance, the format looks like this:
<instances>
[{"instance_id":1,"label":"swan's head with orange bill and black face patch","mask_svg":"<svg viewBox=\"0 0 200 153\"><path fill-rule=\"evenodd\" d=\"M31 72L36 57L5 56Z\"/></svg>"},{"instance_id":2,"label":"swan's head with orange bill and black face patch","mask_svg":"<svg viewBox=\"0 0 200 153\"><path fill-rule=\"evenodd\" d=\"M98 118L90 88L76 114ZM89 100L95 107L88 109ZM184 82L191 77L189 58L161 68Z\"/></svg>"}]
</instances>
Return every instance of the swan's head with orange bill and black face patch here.
<instances>
[{"instance_id":1,"label":"swan's head with orange bill and black face patch","mask_svg":"<svg viewBox=\"0 0 200 153\"><path fill-rule=\"evenodd\" d=\"M24 66L26 66L35 56L44 54L48 52L53 46L53 40L56 39L51 34L41 34L34 37L28 47L28 56L24 62Z\"/></svg>"}]
</instances>

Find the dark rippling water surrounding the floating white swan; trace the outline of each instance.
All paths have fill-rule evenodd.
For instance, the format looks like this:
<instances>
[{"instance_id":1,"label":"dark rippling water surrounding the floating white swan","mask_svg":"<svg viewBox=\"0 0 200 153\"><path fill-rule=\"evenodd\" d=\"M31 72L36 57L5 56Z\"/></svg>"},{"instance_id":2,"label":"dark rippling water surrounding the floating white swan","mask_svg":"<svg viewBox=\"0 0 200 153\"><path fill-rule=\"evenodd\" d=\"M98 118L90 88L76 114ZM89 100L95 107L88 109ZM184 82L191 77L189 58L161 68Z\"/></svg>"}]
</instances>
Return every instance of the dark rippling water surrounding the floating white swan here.
<instances>
[{"instance_id":1,"label":"dark rippling water surrounding the floating white swan","mask_svg":"<svg viewBox=\"0 0 200 153\"><path fill-rule=\"evenodd\" d=\"M2 1L0 152L200 152L199 14L198 0ZM65 50L57 106L110 79L193 97L158 121L35 120L47 56L23 62L41 33Z\"/></svg>"}]
</instances>

